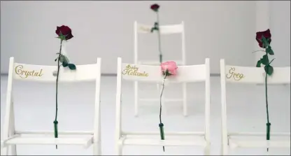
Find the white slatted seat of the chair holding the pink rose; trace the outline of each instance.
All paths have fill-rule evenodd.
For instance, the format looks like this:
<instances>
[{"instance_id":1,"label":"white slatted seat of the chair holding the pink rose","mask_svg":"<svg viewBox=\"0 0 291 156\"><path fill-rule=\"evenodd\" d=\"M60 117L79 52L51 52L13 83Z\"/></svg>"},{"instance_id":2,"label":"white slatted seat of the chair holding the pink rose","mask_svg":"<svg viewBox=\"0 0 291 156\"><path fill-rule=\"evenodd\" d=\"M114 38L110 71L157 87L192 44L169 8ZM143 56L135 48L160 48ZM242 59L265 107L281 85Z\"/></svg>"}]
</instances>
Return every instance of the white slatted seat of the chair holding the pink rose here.
<instances>
[{"instance_id":1,"label":"white slatted seat of the chair holding the pink rose","mask_svg":"<svg viewBox=\"0 0 291 156\"><path fill-rule=\"evenodd\" d=\"M159 134L127 134L122 135L120 143L123 145L138 146L202 146L206 147L204 132L194 134L188 132L187 135L175 135L170 132L166 133L166 139L161 140ZM185 132L184 132L185 133ZM192 134L191 134L192 133Z\"/></svg>"}]
</instances>

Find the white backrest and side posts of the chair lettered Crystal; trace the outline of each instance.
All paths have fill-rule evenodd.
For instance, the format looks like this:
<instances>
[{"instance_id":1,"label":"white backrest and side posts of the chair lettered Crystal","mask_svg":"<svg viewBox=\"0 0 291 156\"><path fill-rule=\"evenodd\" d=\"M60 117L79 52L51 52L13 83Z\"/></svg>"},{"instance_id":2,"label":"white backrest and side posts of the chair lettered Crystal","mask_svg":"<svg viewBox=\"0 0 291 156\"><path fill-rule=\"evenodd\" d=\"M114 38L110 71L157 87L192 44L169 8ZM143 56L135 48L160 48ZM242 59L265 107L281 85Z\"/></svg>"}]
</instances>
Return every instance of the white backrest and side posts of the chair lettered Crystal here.
<instances>
[{"instance_id":1,"label":"white backrest and side posts of the chair lettered Crystal","mask_svg":"<svg viewBox=\"0 0 291 156\"><path fill-rule=\"evenodd\" d=\"M14 62L14 58L10 57L8 70L8 87L6 94L6 116L4 120L4 136L8 136L11 118L14 118L12 87L13 80L34 81L41 83L56 83L57 76L53 73L57 71L57 66L42 66L33 64L19 64ZM95 119L94 119L94 139L99 140L100 130L100 76L101 76L101 58L97 58L97 64L77 65L76 70L70 70L60 67L59 82L82 82L94 80L96 82L95 90ZM97 134L96 134L97 133Z\"/></svg>"}]
</instances>

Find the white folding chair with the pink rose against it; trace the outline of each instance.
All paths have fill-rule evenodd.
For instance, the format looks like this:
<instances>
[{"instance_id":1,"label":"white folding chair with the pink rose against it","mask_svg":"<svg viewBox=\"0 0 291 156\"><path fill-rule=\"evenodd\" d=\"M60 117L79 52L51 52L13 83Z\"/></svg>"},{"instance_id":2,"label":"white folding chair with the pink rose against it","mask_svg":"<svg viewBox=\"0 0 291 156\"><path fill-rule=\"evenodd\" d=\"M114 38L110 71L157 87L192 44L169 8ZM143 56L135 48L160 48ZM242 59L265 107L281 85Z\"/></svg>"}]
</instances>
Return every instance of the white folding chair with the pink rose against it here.
<instances>
[{"instance_id":1,"label":"white folding chair with the pink rose against it","mask_svg":"<svg viewBox=\"0 0 291 156\"><path fill-rule=\"evenodd\" d=\"M139 76L132 75L130 66L139 68L134 73ZM205 82L205 129L204 132L165 132L167 138L160 140L159 130L157 132L124 132L122 131L122 80L143 81L147 83L162 83L162 73L160 66L127 64L122 63L122 59L118 58L117 71L117 93L116 93L116 127L115 127L115 148L117 155L122 155L122 146L202 146L204 153L210 153L210 73L209 59L205 60L205 64L192 66L178 66L176 76L166 78L165 83L197 83ZM141 73L141 74L139 74ZM143 73L143 74L142 74ZM154 138L151 139L150 136ZM172 138L170 136L176 137ZM196 137L195 139L192 139Z\"/></svg>"}]
</instances>

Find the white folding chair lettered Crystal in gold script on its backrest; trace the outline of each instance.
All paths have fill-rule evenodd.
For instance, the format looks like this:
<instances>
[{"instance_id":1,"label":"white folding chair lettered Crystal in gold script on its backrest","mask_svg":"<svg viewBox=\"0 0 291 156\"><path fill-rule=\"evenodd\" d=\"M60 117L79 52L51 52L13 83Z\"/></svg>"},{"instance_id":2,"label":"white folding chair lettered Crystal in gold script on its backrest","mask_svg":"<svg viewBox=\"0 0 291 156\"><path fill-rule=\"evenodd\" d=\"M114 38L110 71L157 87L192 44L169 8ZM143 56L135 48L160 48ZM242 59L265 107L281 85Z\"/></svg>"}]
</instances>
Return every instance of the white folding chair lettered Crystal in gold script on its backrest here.
<instances>
[{"instance_id":1,"label":"white folding chair lettered Crystal in gold script on its backrest","mask_svg":"<svg viewBox=\"0 0 291 156\"><path fill-rule=\"evenodd\" d=\"M15 129L15 116L13 110L13 80L34 81L39 83L55 83L53 72L57 66L42 66L33 64L19 64L10 57L8 71L8 87L6 97L6 115L3 121L3 141L1 141L1 155L17 155L17 145L77 145L89 148L93 145L94 155L101 155L100 131L100 69L101 58L97 64L76 66L76 70L60 68L59 83L75 83L95 81L95 108L94 130L86 131L59 131L59 138L53 136L54 132L17 131ZM31 74L30 71L34 71ZM74 136L75 135L75 136ZM78 135L79 137L76 137ZM81 137L80 137L81 136Z\"/></svg>"}]
</instances>

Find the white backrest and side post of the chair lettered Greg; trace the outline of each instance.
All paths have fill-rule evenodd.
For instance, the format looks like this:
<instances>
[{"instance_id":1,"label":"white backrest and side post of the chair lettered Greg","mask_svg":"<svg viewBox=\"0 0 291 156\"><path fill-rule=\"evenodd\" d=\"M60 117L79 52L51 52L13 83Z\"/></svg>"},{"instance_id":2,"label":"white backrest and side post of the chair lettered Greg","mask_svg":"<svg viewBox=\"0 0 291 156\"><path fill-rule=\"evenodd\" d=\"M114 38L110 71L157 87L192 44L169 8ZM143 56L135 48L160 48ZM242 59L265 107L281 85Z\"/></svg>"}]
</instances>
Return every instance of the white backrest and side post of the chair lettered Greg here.
<instances>
[{"instance_id":1,"label":"white backrest and side post of the chair lettered Greg","mask_svg":"<svg viewBox=\"0 0 291 156\"><path fill-rule=\"evenodd\" d=\"M232 66L225 64L225 59L220 59L220 83L222 104L222 137L227 137L226 83L264 84L264 67ZM290 66L274 67L274 73L271 76L268 76L267 83L290 84ZM224 140L227 141L226 138Z\"/></svg>"}]
</instances>

